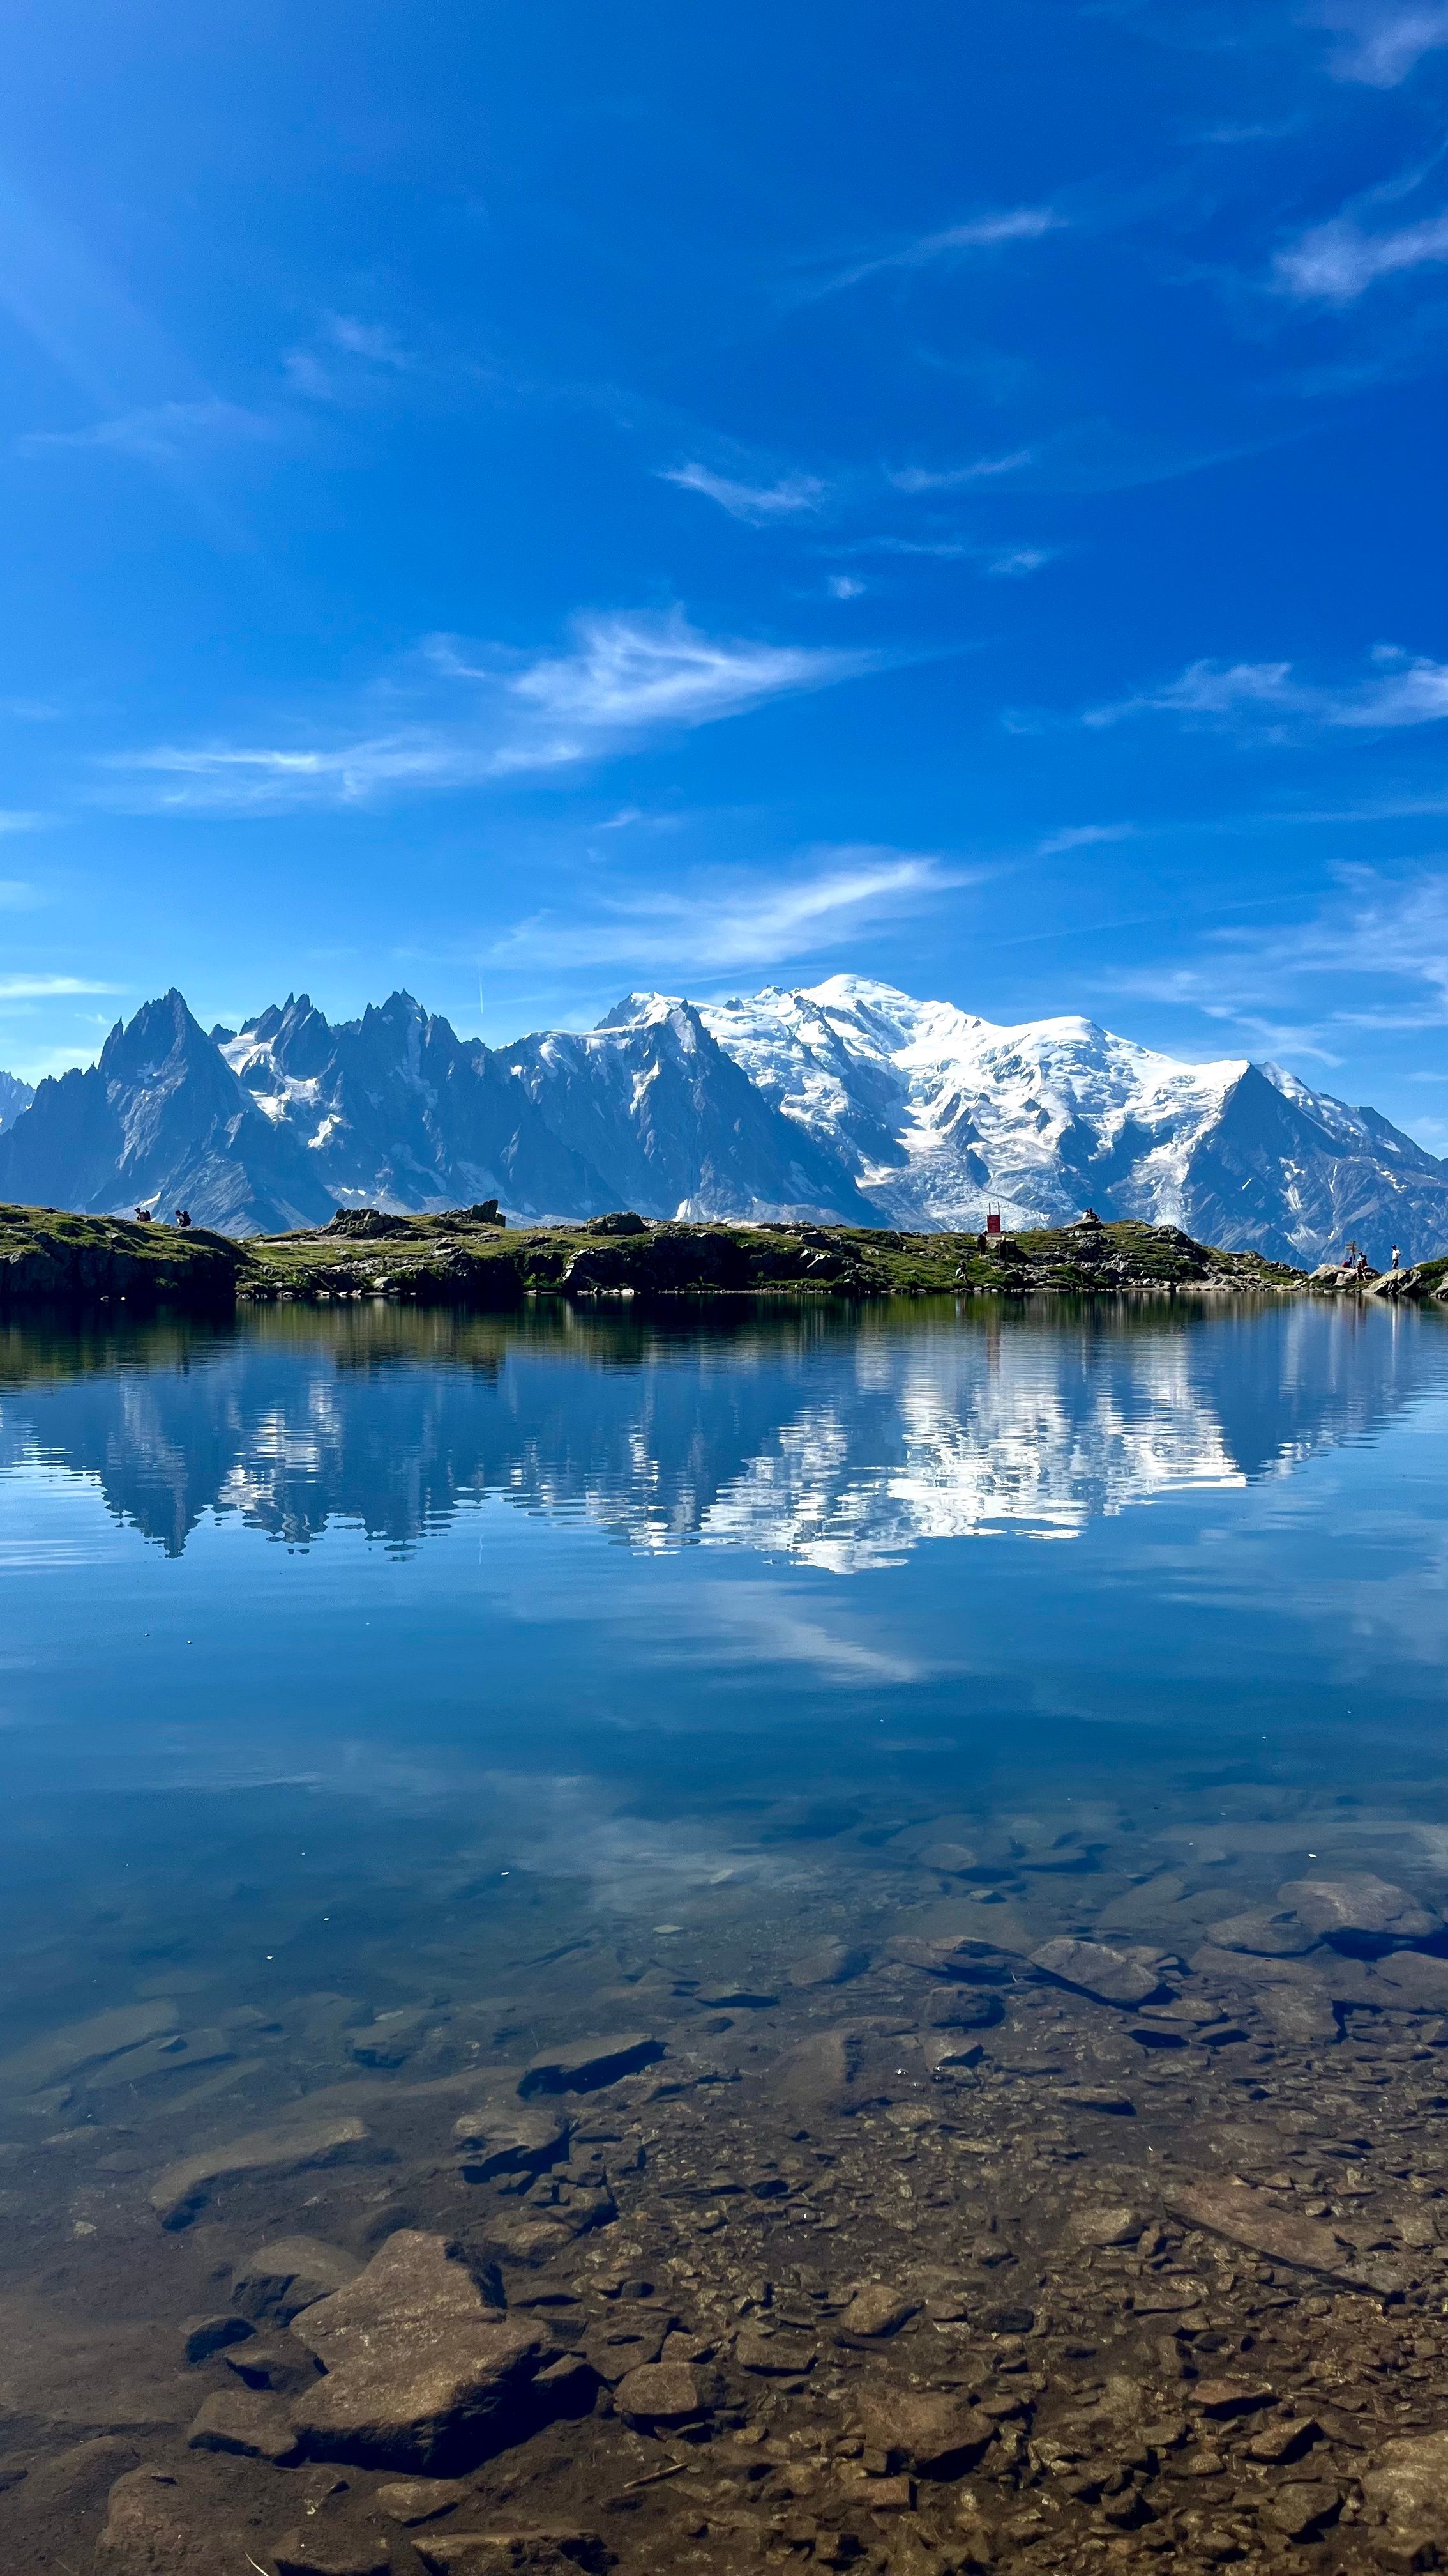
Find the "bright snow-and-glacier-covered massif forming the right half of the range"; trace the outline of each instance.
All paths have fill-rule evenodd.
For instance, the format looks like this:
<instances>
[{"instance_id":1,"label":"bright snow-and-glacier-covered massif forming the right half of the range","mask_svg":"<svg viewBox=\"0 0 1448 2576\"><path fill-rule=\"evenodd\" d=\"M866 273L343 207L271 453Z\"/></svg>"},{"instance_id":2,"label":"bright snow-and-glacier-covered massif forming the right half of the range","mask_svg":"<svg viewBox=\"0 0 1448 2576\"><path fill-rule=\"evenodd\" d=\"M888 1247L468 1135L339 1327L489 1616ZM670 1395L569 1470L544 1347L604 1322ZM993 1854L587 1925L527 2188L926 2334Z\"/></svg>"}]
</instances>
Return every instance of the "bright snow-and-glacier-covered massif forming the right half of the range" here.
<instances>
[{"instance_id":1,"label":"bright snow-and-glacier-covered massif forming the right half of the range","mask_svg":"<svg viewBox=\"0 0 1448 2576\"><path fill-rule=\"evenodd\" d=\"M1041 1226L1090 1203L1288 1262L1350 1236L1381 1257L1448 1242L1448 1164L1273 1064L1180 1064L1092 1020L1000 1028L863 976L701 1018L894 1226L979 1226L992 1200Z\"/></svg>"}]
</instances>

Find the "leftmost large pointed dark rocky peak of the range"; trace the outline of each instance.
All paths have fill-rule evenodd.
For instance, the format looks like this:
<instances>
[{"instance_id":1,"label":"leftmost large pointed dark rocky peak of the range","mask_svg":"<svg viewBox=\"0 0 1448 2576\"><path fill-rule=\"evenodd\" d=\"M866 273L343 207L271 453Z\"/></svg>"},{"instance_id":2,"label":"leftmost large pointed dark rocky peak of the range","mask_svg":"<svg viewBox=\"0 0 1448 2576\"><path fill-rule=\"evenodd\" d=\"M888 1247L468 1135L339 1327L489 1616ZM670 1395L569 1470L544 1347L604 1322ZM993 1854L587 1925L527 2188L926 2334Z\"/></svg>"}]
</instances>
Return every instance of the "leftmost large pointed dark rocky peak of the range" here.
<instances>
[{"instance_id":1,"label":"leftmost large pointed dark rocky peak of the range","mask_svg":"<svg viewBox=\"0 0 1448 2576\"><path fill-rule=\"evenodd\" d=\"M304 1146L260 1113L178 992L116 1020L100 1064L41 1082L0 1136L0 1198L191 1208L224 1234L319 1224L332 1206Z\"/></svg>"}]
</instances>

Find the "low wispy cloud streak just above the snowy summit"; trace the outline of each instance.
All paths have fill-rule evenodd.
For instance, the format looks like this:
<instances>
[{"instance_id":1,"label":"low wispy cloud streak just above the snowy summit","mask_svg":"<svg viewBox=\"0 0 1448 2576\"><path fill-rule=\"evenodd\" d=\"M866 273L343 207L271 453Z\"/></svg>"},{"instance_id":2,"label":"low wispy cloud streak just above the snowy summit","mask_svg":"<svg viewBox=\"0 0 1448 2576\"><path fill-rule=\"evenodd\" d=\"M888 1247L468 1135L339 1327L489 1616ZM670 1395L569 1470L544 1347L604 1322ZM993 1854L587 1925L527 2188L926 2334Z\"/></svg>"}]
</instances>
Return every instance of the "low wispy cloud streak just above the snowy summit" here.
<instances>
[{"instance_id":1,"label":"low wispy cloud streak just above the snowy summit","mask_svg":"<svg viewBox=\"0 0 1448 2576\"><path fill-rule=\"evenodd\" d=\"M747 878L716 891L642 889L587 920L538 912L502 938L497 963L629 966L665 974L732 974L817 956L837 940L920 912L971 873L935 853L845 842L809 853L809 866L773 884Z\"/></svg>"}]
</instances>

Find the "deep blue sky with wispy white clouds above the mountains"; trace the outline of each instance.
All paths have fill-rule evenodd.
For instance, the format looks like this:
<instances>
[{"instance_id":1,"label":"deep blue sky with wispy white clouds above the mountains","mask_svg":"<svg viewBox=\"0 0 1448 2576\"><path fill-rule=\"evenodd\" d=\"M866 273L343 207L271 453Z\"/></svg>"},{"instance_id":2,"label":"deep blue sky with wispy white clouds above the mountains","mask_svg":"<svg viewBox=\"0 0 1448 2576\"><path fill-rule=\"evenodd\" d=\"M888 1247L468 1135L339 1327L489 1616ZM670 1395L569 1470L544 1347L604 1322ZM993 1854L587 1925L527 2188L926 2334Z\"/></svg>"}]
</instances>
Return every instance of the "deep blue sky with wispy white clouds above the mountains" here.
<instances>
[{"instance_id":1,"label":"deep blue sky with wispy white clouds above the mountains","mask_svg":"<svg viewBox=\"0 0 1448 2576\"><path fill-rule=\"evenodd\" d=\"M0 1064L881 974L1448 1149L1448 0L46 0Z\"/></svg>"}]
</instances>

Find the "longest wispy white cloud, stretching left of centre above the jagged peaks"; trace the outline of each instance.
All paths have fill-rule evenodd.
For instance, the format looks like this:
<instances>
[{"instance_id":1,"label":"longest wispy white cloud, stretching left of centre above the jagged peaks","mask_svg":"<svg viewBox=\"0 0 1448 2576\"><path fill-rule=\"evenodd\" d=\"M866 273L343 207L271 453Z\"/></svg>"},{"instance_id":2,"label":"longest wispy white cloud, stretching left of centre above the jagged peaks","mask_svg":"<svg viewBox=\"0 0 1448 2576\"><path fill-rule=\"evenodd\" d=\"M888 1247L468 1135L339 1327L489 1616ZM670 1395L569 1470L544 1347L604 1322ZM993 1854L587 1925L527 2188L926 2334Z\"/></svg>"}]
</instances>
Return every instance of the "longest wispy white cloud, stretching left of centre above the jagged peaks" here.
<instances>
[{"instance_id":1,"label":"longest wispy white cloud, stretching left of centre above the jagged peaks","mask_svg":"<svg viewBox=\"0 0 1448 2576\"><path fill-rule=\"evenodd\" d=\"M577 618L569 652L523 670L469 662L448 636L433 639L428 659L443 683L472 690L464 716L448 708L335 742L157 744L111 770L144 778L142 801L160 811L361 806L605 760L881 665L871 652L709 636L680 611Z\"/></svg>"}]
</instances>

